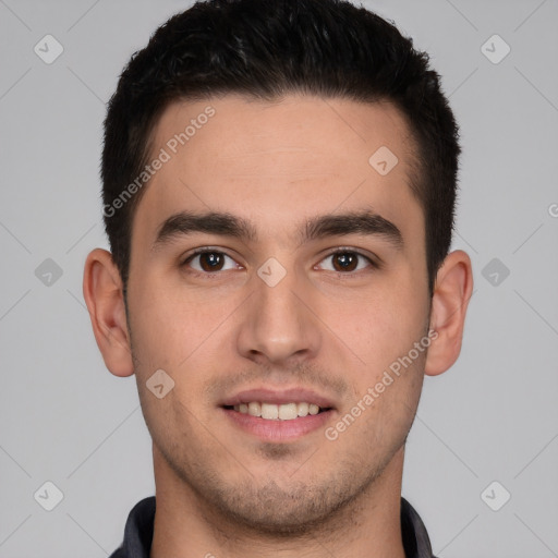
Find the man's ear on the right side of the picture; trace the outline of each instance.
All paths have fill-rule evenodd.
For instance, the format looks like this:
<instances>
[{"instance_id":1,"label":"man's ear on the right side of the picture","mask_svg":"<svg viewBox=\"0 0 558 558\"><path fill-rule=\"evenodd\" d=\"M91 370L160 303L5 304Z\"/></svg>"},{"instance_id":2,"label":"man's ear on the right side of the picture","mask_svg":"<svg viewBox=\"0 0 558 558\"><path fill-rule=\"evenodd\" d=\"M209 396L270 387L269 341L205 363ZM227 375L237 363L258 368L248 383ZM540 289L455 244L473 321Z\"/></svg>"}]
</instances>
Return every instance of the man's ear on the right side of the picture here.
<instances>
[{"instance_id":1,"label":"man's ear on the right side of the picture","mask_svg":"<svg viewBox=\"0 0 558 558\"><path fill-rule=\"evenodd\" d=\"M437 332L428 348L425 374L446 372L461 352L465 314L473 292L471 259L457 250L448 254L436 274L432 299L430 330Z\"/></svg>"}]
</instances>

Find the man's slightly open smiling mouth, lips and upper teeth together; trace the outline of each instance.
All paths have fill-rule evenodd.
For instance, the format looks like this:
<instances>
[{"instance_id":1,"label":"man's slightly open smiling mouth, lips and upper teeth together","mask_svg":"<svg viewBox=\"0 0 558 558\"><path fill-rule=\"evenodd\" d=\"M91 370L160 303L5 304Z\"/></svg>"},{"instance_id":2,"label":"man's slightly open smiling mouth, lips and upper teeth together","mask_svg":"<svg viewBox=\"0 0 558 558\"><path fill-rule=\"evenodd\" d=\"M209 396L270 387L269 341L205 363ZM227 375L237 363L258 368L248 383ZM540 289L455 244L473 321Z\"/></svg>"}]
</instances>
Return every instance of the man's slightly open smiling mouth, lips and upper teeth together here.
<instances>
[{"instance_id":1,"label":"man's slightly open smiling mouth, lips and upper teeth together","mask_svg":"<svg viewBox=\"0 0 558 558\"><path fill-rule=\"evenodd\" d=\"M336 409L310 390L243 391L220 405L230 423L263 441L287 441L323 427Z\"/></svg>"}]
</instances>

